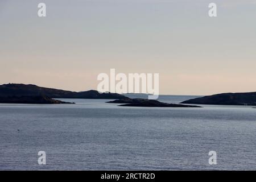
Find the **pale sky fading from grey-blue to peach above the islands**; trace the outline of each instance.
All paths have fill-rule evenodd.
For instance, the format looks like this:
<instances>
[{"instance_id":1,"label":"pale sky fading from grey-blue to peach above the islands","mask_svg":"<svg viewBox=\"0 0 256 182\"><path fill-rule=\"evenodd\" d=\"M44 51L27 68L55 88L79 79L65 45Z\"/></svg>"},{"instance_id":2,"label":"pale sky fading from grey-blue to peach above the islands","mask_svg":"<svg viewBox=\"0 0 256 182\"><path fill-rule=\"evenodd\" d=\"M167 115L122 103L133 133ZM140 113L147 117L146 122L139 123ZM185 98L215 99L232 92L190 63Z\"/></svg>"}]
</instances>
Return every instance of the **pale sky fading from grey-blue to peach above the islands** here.
<instances>
[{"instance_id":1,"label":"pale sky fading from grey-blue to peach above the islands","mask_svg":"<svg viewBox=\"0 0 256 182\"><path fill-rule=\"evenodd\" d=\"M256 92L255 19L256 0L1 0L0 84L90 90L114 68L160 94Z\"/></svg>"}]
</instances>

